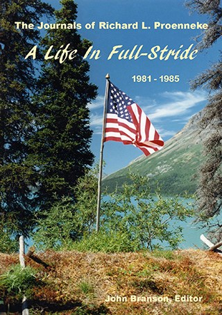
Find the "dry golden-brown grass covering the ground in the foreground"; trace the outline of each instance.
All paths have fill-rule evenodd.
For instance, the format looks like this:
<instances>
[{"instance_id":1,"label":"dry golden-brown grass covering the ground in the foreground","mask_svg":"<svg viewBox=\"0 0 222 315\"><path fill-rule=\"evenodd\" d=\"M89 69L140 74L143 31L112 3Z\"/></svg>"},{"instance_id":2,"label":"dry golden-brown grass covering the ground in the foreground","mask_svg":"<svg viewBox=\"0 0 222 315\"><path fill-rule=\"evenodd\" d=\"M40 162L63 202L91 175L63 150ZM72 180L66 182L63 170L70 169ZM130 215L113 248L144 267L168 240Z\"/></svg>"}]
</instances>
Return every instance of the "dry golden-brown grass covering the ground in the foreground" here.
<instances>
[{"instance_id":1,"label":"dry golden-brown grass covering the ground in the foreground","mask_svg":"<svg viewBox=\"0 0 222 315\"><path fill-rule=\"evenodd\" d=\"M200 250L161 256L51 251L36 255L35 261L26 259L39 279L31 314L222 314L222 257ZM0 254L0 273L17 261L17 256ZM108 295L128 301L105 302ZM169 302L130 302L132 295L167 297ZM176 295L203 299L175 302Z\"/></svg>"}]
</instances>

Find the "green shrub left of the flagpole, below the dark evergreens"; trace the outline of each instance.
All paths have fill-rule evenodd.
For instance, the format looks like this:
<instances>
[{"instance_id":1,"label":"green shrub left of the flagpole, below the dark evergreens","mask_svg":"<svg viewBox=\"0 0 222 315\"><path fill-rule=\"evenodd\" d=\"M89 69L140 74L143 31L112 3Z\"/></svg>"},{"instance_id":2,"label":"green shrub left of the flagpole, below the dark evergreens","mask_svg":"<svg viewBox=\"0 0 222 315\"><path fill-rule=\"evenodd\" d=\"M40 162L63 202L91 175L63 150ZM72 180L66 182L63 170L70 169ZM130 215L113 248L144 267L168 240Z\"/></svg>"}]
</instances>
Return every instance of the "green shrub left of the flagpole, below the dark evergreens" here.
<instances>
[{"instance_id":1,"label":"green shrub left of the flagpole, below the dark evergreens","mask_svg":"<svg viewBox=\"0 0 222 315\"><path fill-rule=\"evenodd\" d=\"M40 250L60 248L91 234L96 223L96 200L98 179L96 166L86 170L74 188L75 202L62 197L51 209L37 217L33 241Z\"/></svg>"}]
</instances>

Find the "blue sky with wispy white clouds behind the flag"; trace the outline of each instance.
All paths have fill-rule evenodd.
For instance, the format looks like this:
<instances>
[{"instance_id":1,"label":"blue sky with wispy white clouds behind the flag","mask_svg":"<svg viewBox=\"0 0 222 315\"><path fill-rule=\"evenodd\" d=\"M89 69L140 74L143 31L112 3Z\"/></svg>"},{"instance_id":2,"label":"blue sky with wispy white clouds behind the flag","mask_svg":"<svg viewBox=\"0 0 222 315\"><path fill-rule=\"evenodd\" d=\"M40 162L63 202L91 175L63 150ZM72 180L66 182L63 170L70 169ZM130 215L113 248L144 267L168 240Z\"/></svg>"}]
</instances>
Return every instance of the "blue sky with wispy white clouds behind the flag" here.
<instances>
[{"instance_id":1,"label":"blue sky with wispy white clouds behind the flag","mask_svg":"<svg viewBox=\"0 0 222 315\"><path fill-rule=\"evenodd\" d=\"M47 1L55 8L60 4L57 0ZM77 22L83 25L78 31L82 38L93 42L94 49L101 50L101 58L88 60L90 80L99 87L97 99L89 104L91 113L92 152L99 161L101 145L101 124L103 100L105 93L105 74L110 74L110 81L126 92L144 110L164 140L180 131L194 113L206 104L207 92L191 91L189 81L215 62L219 56L219 47L215 45L207 51L198 52L194 60L118 60L113 56L107 60L112 47L123 45L123 49L133 49L135 45L143 45L144 51L160 45L164 48L179 49L180 45L188 48L194 44L194 37L200 30L155 30L153 22L161 23L207 23L206 16L189 14L181 0L78 0ZM95 29L85 29L85 24L96 22ZM107 30L99 29L99 22L135 23L144 22L151 26L149 30ZM151 75L159 78L162 74L179 75L178 83L135 83L133 75ZM123 145L109 141L105 143L105 173L110 174L124 166L142 151L133 145ZM148 158L147 158L148 159Z\"/></svg>"}]
</instances>

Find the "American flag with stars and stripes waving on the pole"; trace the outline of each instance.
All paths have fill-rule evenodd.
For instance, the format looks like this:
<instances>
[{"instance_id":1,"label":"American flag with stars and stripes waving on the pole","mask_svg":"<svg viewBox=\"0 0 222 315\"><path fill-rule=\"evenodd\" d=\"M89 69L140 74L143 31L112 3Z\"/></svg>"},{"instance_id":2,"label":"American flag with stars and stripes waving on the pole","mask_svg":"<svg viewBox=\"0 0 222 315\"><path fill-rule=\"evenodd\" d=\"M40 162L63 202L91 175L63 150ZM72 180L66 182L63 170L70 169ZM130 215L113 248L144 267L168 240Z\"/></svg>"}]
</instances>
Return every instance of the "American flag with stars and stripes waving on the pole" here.
<instances>
[{"instance_id":1,"label":"American flag with stars and stripes waving on the pole","mask_svg":"<svg viewBox=\"0 0 222 315\"><path fill-rule=\"evenodd\" d=\"M146 156L160 150L164 141L153 124L123 91L110 82L105 121L105 141L120 141L124 145L139 147Z\"/></svg>"}]
</instances>

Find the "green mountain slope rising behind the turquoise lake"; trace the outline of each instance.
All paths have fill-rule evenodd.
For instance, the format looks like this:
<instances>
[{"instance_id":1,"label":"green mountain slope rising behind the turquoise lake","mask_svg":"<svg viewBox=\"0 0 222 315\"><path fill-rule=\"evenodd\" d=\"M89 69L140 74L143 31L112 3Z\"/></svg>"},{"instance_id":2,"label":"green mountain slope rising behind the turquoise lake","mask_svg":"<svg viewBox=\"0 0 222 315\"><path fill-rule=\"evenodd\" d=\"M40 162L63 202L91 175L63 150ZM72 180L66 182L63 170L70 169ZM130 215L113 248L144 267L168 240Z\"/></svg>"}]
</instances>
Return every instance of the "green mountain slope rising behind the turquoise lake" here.
<instances>
[{"instance_id":1,"label":"green mountain slope rising behind the turquoise lake","mask_svg":"<svg viewBox=\"0 0 222 315\"><path fill-rule=\"evenodd\" d=\"M194 193L198 185L198 174L201 163L203 140L211 132L211 126L200 129L198 122L204 113L196 113L185 127L168 140L164 148L151 156L139 156L126 168L108 175L103 179L103 187L113 191L118 185L130 182L128 172L137 172L148 176L151 191L155 191L156 182L164 195Z\"/></svg>"}]
</instances>

